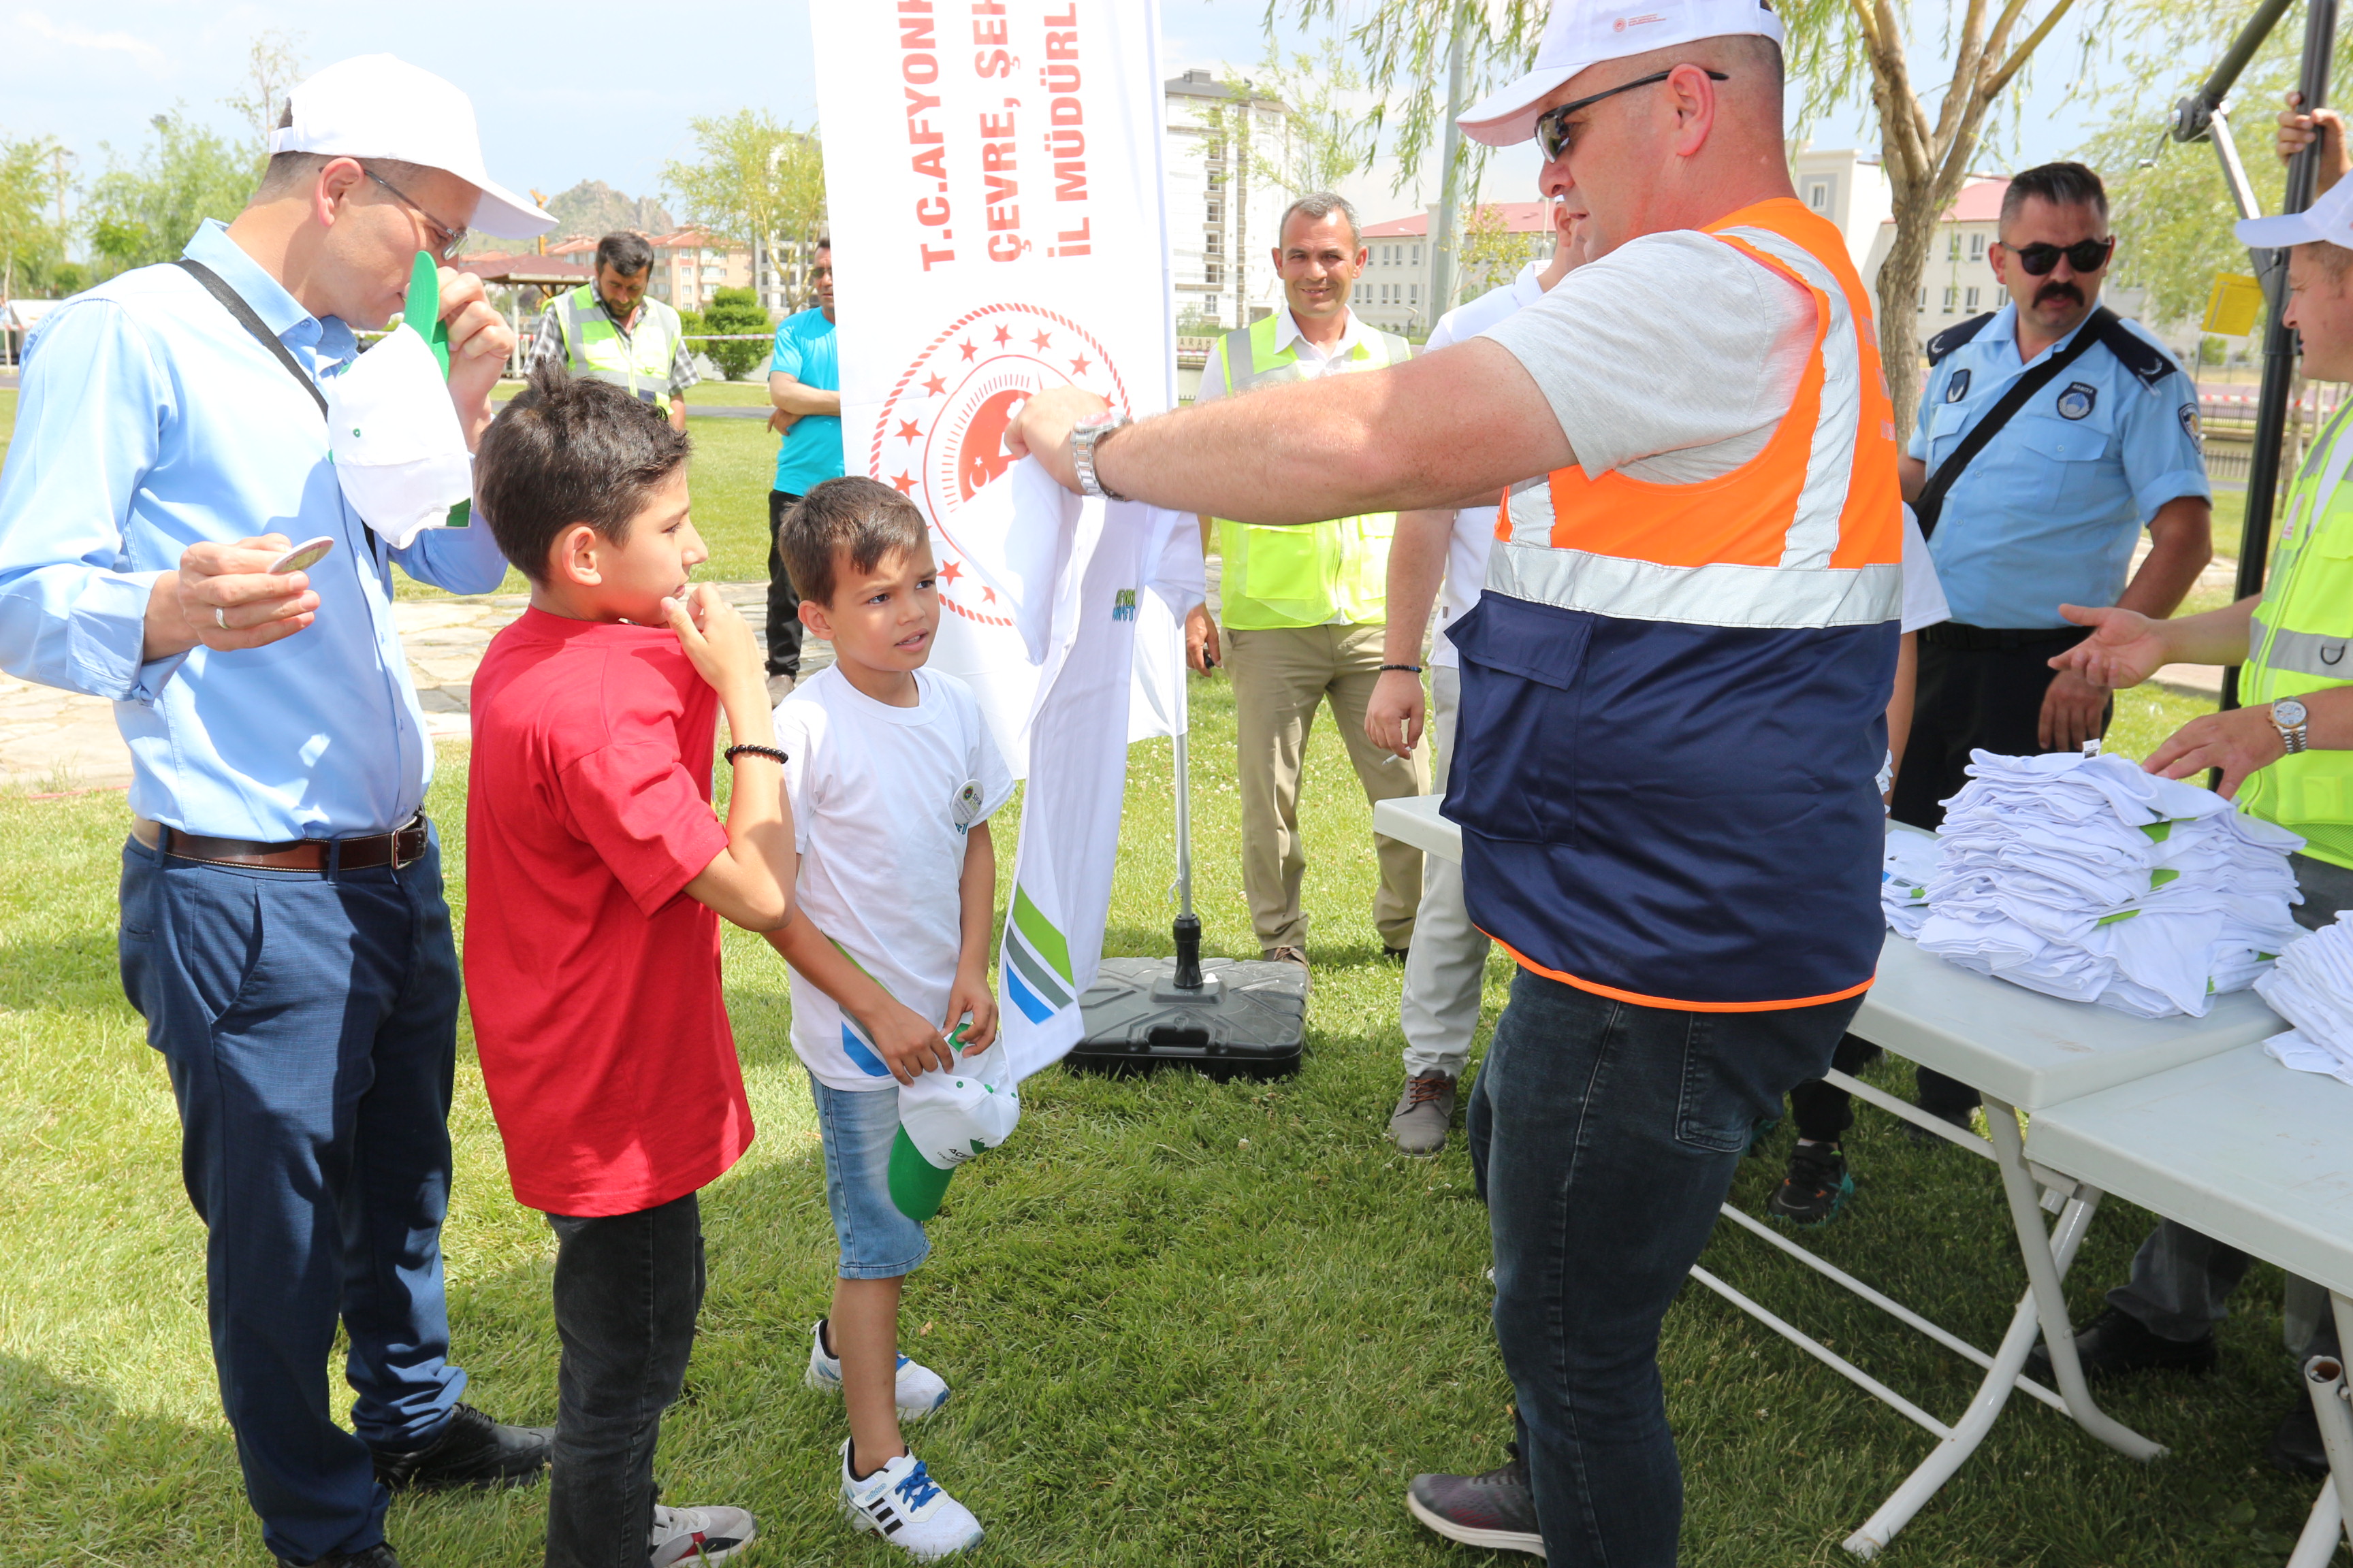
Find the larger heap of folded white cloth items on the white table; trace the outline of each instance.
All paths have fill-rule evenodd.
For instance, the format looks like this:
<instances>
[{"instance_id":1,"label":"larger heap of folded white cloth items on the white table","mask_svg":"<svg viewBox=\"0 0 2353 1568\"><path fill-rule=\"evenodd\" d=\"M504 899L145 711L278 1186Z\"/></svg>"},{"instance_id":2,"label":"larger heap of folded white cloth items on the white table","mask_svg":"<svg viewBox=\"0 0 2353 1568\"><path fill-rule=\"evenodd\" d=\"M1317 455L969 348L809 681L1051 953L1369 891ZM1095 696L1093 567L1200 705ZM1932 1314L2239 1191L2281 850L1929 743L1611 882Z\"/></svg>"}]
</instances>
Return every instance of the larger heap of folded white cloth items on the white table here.
<instances>
[{"instance_id":1,"label":"larger heap of folded white cloth items on the white table","mask_svg":"<svg viewBox=\"0 0 2353 1568\"><path fill-rule=\"evenodd\" d=\"M1937 865L1889 924L1911 926L1925 952L2028 990L2202 1018L2297 938L2287 856L2301 846L2212 790L2122 757L1972 752Z\"/></svg>"}]
</instances>

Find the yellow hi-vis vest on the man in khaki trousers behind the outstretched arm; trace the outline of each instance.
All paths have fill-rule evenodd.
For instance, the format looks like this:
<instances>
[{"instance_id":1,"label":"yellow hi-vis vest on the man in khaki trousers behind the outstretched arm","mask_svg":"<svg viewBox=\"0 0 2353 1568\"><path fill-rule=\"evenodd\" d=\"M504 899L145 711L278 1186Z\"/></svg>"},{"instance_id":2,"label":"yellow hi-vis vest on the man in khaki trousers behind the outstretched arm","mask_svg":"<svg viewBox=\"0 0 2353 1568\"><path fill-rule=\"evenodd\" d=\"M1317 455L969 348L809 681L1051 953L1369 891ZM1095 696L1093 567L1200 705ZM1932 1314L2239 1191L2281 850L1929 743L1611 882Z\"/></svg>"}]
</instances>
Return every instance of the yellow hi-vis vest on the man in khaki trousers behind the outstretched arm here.
<instances>
[{"instance_id":1,"label":"yellow hi-vis vest on the man in khaki trousers behind the outstretched arm","mask_svg":"<svg viewBox=\"0 0 2353 1568\"><path fill-rule=\"evenodd\" d=\"M1226 393L1247 393L1280 381L1306 381L1299 353L1275 348L1282 317L1268 315L1219 339L1202 376L1217 376ZM1327 374L1402 364L1412 343L1393 331L1374 331ZM1219 585L1226 625L1264 632L1278 625L1369 625L1388 618L1388 541L1395 512L1334 517L1304 527L1261 527L1217 520L1217 550L1226 562Z\"/></svg>"}]
</instances>

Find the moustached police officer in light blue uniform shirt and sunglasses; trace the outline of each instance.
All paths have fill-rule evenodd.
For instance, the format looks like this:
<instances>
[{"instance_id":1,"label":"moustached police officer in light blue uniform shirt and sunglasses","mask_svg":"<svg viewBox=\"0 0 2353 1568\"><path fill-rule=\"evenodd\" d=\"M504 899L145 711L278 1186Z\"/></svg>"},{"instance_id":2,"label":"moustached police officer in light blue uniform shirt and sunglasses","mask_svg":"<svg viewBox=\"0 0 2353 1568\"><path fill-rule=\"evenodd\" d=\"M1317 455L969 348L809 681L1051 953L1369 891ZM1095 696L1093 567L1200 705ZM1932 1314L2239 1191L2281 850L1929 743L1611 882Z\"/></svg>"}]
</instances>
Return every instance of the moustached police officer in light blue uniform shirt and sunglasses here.
<instances>
[{"instance_id":1,"label":"moustached police officer in light blue uniform shirt and sunglasses","mask_svg":"<svg viewBox=\"0 0 2353 1568\"><path fill-rule=\"evenodd\" d=\"M2198 383L2139 322L2099 308L2113 256L2099 174L2080 162L2026 169L2002 195L1988 249L2009 303L1927 343L1904 498L1920 510L1953 618L1920 632L1911 741L1889 806L1899 823L1934 830L1974 748L2061 752L2101 736L2108 693L2073 672L2054 677L2047 663L2087 635L2059 604L2165 618L2214 555ZM2040 378L2054 360L2057 374ZM2042 383L2005 409L2031 376ZM1995 414L2007 418L1972 442ZM2134 571L2144 527L2151 548ZM1835 1065L1854 1072L1871 1056L1847 1037ZM1838 1211L1840 1187L1852 1190L1835 1145L1852 1124L1845 1098L1828 1084L1791 1095L1798 1133L1817 1147L1793 1154L1774 1213L1819 1225ZM1967 1126L1977 1091L1922 1067L1920 1107Z\"/></svg>"}]
</instances>

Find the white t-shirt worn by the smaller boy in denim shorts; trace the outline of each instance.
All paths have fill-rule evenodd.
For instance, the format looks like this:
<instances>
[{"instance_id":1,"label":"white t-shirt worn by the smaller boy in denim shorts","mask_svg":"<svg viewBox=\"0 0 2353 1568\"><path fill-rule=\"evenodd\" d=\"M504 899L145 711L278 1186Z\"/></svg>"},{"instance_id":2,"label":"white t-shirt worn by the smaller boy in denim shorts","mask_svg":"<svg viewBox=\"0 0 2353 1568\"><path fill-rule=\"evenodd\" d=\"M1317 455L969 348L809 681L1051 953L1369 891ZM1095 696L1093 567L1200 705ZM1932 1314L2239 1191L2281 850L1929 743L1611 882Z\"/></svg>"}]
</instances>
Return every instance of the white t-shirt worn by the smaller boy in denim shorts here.
<instances>
[{"instance_id":1,"label":"white t-shirt worn by the smaller boy in denim shorts","mask_svg":"<svg viewBox=\"0 0 2353 1568\"><path fill-rule=\"evenodd\" d=\"M915 708L892 708L826 668L776 705L776 745L791 755L798 919L941 1023L965 940L965 835L1014 780L965 682L915 670ZM866 1030L800 971L793 1051L828 1088L896 1086Z\"/></svg>"}]
</instances>

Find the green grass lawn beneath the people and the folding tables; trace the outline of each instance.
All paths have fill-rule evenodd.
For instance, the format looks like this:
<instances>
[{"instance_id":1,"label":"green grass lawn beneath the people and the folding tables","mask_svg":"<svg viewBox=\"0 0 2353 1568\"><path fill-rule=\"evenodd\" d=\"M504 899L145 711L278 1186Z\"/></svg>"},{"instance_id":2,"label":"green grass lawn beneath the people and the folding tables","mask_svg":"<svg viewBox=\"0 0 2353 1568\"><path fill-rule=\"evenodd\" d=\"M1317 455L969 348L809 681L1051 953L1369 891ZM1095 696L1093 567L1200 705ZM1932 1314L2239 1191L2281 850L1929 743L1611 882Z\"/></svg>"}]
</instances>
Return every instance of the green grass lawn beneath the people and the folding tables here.
<instances>
[{"instance_id":1,"label":"green grass lawn beneath the people and the folding tables","mask_svg":"<svg viewBox=\"0 0 2353 1568\"><path fill-rule=\"evenodd\" d=\"M1198 686L1195 722L1200 912L1214 952L1247 952L1221 679ZM466 750L447 748L433 813L452 875L464 773ZM1367 813L1327 733L1301 818L1320 959L1306 1070L1266 1086L1047 1072L1021 1133L958 1175L934 1225L934 1260L908 1286L908 1349L955 1401L918 1441L986 1521L981 1568L1487 1561L1426 1535L1400 1502L1417 1469L1499 1462L1511 1389L1461 1143L1421 1164L1381 1135L1400 1077L1398 971L1377 957ZM115 980L120 839L118 795L0 797L0 1566L261 1563L214 1401L172 1098ZM1007 865L1012 842L1000 837ZM1134 750L1122 851L1111 950L1165 952L1167 743ZM452 900L464 919L459 884ZM894 1554L833 1514L840 1408L800 1387L833 1241L784 969L741 933L725 961L760 1140L704 1194L711 1298L661 1479L673 1502L755 1509L748 1563L880 1568ZM1489 964L1489 1023L1506 978ZM471 1037L459 1060L445 1237L456 1359L471 1399L546 1422L551 1239L508 1194ZM1906 1079L1887 1063L1873 1077ZM1737 1204L1762 1208L1788 1135L1744 1166ZM1920 1152L1868 1110L1849 1147L1861 1192L1821 1251L1991 1345L2024 1288L1993 1171ZM2071 1288L2080 1316L2122 1279L2144 1225L2122 1204L2099 1220ZM1958 1418L1974 1385L1960 1361L1729 1227L1708 1267ZM2261 1465L2294 1396L2275 1302L2278 1276L2257 1269L2221 1328L2221 1375L2108 1396L2172 1460L2132 1465L2014 1401L1885 1561L2275 1566L2313 1497ZM1704 1291L1668 1314L1661 1366L1694 1566L1845 1563L1838 1542L1929 1448ZM391 1533L412 1563L522 1568L539 1561L541 1509L539 1490L405 1497Z\"/></svg>"}]
</instances>

